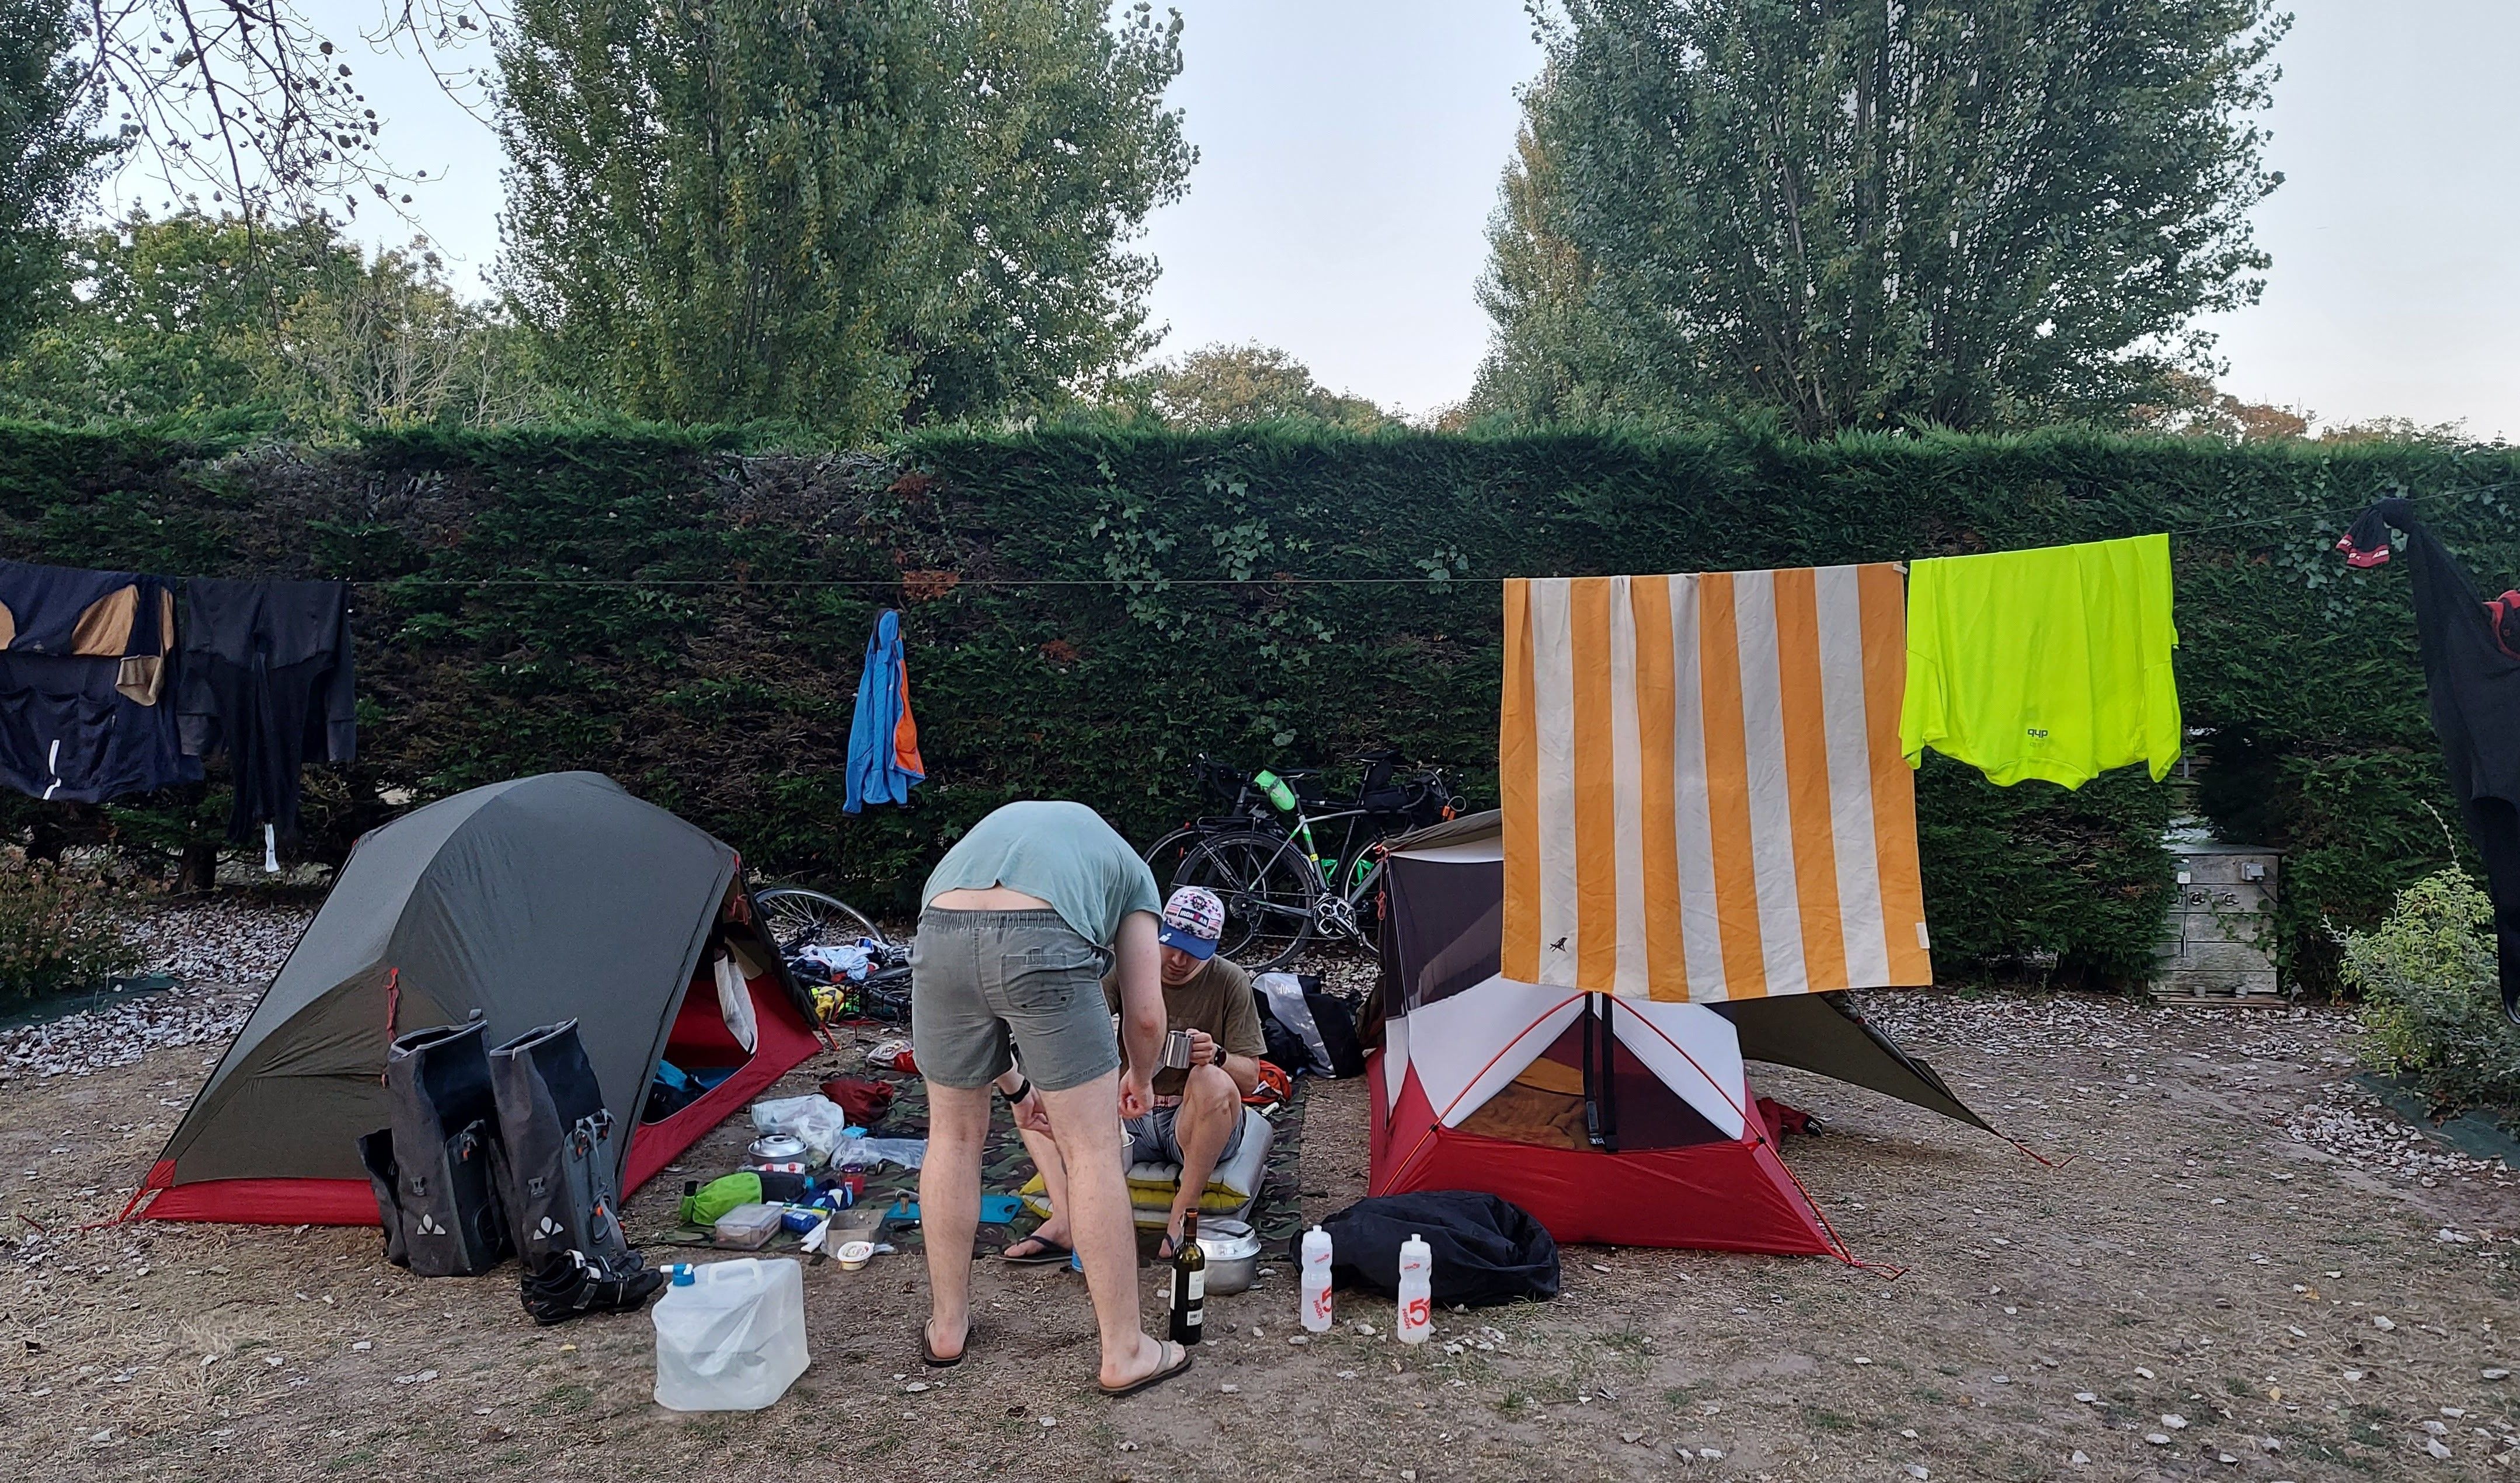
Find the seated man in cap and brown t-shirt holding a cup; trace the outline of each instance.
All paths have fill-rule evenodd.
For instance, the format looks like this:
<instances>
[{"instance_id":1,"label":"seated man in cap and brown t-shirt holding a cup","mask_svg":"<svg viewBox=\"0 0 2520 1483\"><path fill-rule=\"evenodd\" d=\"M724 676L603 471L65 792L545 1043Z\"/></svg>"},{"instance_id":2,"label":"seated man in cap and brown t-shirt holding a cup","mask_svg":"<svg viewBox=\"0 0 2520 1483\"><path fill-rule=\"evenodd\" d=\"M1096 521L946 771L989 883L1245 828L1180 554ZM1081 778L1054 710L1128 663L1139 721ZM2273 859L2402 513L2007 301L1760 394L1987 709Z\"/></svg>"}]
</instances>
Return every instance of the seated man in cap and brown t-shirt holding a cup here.
<instances>
[{"instance_id":1,"label":"seated man in cap and brown t-shirt holding a cup","mask_svg":"<svg viewBox=\"0 0 2520 1483\"><path fill-rule=\"evenodd\" d=\"M1242 964L1217 957L1225 934L1225 901L1202 886L1182 886L1164 901L1164 927L1157 932L1164 979L1164 1027L1189 1037L1189 1068L1154 1075L1154 1108L1129 1118L1131 1163L1179 1163L1182 1188L1172 1196L1162 1256L1182 1239L1189 1211L1200 1206L1210 1176L1242 1148L1242 1098L1260 1085L1260 1057L1268 1037L1252 1002L1252 979ZM1121 1010L1126 984L1104 979L1104 1002ZM1021 1128L1021 1123L1018 1123ZM1068 1246L1068 1201L1061 1168L1063 1141L1026 1131L1023 1146L1041 1168L1051 1196L1051 1219L1031 1236L1011 1244L1008 1261L1063 1261Z\"/></svg>"}]
</instances>

